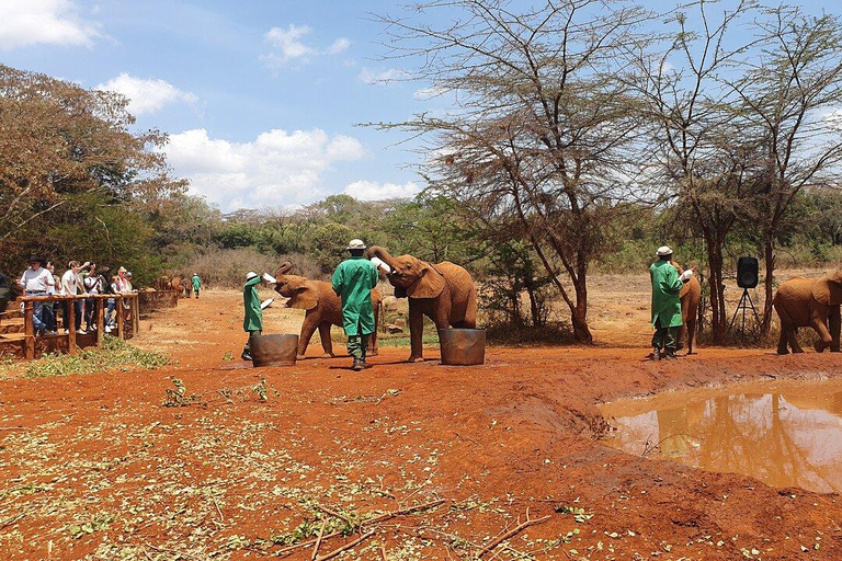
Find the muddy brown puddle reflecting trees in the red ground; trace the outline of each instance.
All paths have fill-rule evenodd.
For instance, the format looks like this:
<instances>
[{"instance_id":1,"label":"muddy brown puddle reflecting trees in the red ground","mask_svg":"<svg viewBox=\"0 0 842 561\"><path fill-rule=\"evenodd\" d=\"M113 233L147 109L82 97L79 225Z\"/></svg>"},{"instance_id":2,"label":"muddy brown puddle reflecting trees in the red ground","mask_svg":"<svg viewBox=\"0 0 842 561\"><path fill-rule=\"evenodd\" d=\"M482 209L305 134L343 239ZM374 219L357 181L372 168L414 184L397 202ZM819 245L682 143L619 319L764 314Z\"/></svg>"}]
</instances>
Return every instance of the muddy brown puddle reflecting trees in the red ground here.
<instances>
[{"instance_id":1,"label":"muddy brown puddle reflecting trees in the red ground","mask_svg":"<svg viewBox=\"0 0 842 561\"><path fill-rule=\"evenodd\" d=\"M842 380L731 385L600 409L616 427L605 444L629 454L842 492Z\"/></svg>"}]
</instances>

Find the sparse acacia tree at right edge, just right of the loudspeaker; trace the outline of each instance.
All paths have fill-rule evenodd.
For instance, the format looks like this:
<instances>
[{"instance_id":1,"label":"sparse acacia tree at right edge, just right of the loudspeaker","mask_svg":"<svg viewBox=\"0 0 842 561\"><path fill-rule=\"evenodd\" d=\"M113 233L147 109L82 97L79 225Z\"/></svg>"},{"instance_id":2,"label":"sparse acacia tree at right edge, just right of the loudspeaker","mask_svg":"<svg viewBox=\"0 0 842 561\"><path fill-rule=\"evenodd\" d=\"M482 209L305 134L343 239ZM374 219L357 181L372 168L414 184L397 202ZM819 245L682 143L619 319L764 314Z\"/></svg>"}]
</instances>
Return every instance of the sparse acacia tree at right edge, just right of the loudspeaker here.
<instances>
[{"instance_id":1,"label":"sparse acacia tree at right edge, just right of the loudspeaker","mask_svg":"<svg viewBox=\"0 0 842 561\"><path fill-rule=\"evenodd\" d=\"M760 49L747 71L725 79L741 103L736 118L761 147L747 219L762 233L765 305L762 332L772 321L775 247L797 197L812 186L839 184L842 162L842 20L780 7L756 21Z\"/></svg>"}]
</instances>

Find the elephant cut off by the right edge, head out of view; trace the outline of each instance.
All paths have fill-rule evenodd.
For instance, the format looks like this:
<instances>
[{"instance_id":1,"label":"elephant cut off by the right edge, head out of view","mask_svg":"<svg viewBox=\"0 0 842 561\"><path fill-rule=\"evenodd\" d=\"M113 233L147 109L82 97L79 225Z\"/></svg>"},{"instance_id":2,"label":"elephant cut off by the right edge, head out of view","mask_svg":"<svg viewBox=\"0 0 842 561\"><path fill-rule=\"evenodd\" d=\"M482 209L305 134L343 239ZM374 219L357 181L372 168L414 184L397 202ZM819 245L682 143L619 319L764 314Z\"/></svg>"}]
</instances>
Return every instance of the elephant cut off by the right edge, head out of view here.
<instances>
[{"instance_id":1,"label":"elephant cut off by the right edge, head out of view","mask_svg":"<svg viewBox=\"0 0 842 561\"><path fill-rule=\"evenodd\" d=\"M810 327L821 337L813 345L821 353L830 347L838 353L840 334L840 305L842 305L842 270L823 278L790 278L782 284L772 300L781 318L781 339L777 354L803 353L795 336L798 328ZM828 330L830 327L830 330Z\"/></svg>"}]
</instances>

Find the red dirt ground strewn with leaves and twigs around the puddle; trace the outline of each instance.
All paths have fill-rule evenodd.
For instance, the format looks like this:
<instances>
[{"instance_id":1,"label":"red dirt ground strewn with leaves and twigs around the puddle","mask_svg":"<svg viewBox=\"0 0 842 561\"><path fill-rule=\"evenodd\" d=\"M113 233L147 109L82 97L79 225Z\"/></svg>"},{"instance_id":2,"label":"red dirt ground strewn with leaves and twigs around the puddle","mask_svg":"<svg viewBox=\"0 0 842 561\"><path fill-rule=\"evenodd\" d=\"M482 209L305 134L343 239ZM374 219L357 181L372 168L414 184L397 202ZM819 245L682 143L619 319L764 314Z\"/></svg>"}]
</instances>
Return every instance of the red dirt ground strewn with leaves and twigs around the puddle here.
<instances>
[{"instance_id":1,"label":"red dirt ground strewn with leaves and twigs around the puddle","mask_svg":"<svg viewBox=\"0 0 842 561\"><path fill-rule=\"evenodd\" d=\"M470 368L441 366L435 348L422 364L384 348L359 374L348 357L237 368L223 356L243 341L239 298L205 293L144 322L151 331L137 344L178 365L0 381L0 559L254 559L282 550L273 537L318 534L322 519L328 535L343 517L436 499L364 526L374 534L339 559L474 559L526 516L548 518L482 559L842 559L835 494L596 439L600 402L840 377L841 355L702 347L652 363L644 340L640 350L490 348ZM198 399L162 407L169 377ZM261 379L265 401L252 391ZM359 534L325 539L319 554Z\"/></svg>"}]
</instances>

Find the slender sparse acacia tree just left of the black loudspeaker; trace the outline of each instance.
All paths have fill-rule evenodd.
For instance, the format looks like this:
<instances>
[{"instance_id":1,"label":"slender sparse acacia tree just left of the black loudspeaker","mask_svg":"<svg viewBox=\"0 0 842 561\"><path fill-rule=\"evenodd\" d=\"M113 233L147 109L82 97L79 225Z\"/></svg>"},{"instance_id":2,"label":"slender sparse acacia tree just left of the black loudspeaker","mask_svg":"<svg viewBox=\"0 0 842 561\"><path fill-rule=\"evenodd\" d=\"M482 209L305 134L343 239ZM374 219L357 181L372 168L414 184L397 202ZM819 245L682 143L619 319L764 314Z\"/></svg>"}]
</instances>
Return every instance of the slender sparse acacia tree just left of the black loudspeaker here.
<instances>
[{"instance_id":1,"label":"slender sparse acacia tree just left of the black loudspeaker","mask_svg":"<svg viewBox=\"0 0 842 561\"><path fill-rule=\"evenodd\" d=\"M753 46L753 39L735 41L731 33L751 13L753 4L747 1L725 11L718 22L710 21L704 2L691 15L676 11L668 46L658 54L648 45L637 47L624 75L653 125L644 178L665 187L663 194L680 209L676 216L686 218L705 242L715 342L727 329L726 239L759 171L760 145L741 130L731 108L738 96L721 83L722 73Z\"/></svg>"}]
</instances>

